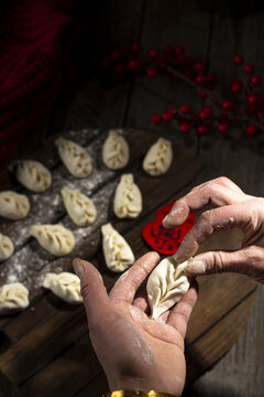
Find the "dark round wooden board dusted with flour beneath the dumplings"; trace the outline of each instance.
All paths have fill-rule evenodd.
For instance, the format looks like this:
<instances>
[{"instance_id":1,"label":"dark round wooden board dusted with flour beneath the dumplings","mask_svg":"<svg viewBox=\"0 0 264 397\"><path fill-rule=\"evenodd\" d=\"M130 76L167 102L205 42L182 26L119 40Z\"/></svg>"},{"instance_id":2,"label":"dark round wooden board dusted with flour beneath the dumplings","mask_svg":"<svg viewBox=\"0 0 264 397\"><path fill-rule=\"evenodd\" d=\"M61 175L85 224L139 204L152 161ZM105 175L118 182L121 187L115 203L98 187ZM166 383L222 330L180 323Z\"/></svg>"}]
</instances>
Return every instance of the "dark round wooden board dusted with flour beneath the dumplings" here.
<instances>
[{"instance_id":1,"label":"dark round wooden board dusted with flour beneath the dumplings","mask_svg":"<svg viewBox=\"0 0 264 397\"><path fill-rule=\"evenodd\" d=\"M110 171L102 164L101 147L106 131L80 130L66 135L85 144L95 159L91 176L84 180L69 175L59 162L54 137L51 138L33 157L52 169L52 187L42 194L31 194L22 189L21 192L25 192L32 203L30 216L15 223L1 223L0 232L12 237L15 244L14 256L1 265L1 283L11 279L25 283L32 303L20 314L0 321L0 337L3 341L0 368L29 397L96 397L107 389L105 375L89 341L84 308L73 307L44 292L41 280L45 272L73 270L73 258L81 257L99 268L110 289L118 276L105 265L100 226L110 221L139 258L150 249L141 237L143 226L155 218L158 207L182 195L184 186L202 168L199 157L174 143L174 161L166 176L152 178L143 172L142 160L160 135L142 130L125 130L124 133L131 159L122 172ZM143 212L138 219L118 219L112 212L113 192L123 172L134 174L143 194ZM3 181L6 186L12 183L8 179ZM98 218L92 226L78 228L65 214L58 194L61 187L67 184L88 193L95 201ZM41 222L59 222L70 228L77 242L74 251L65 258L54 259L41 249L29 236L29 226ZM235 232L232 236L220 234L204 249L215 246L235 248L240 242L241 236ZM18 265L22 267L20 271ZM255 289L253 281L238 275L210 276L200 280L200 298L186 337L187 384L210 368L237 342L252 309Z\"/></svg>"}]
</instances>

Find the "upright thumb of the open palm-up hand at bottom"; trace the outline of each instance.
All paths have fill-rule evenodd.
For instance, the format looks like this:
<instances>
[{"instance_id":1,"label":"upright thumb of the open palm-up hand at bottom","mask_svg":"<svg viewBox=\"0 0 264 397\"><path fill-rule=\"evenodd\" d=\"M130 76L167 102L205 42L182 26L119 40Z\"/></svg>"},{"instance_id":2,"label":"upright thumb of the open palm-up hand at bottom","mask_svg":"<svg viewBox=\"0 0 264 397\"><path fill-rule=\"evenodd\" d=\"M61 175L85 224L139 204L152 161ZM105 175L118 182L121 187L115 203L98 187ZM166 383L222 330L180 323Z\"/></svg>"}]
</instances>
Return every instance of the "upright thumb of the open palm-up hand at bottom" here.
<instances>
[{"instance_id":1,"label":"upright thumb of the open palm-up hand at bottom","mask_svg":"<svg viewBox=\"0 0 264 397\"><path fill-rule=\"evenodd\" d=\"M80 279L80 293L84 299L89 328L108 311L109 298L102 277L90 262L74 259L76 275Z\"/></svg>"}]
</instances>

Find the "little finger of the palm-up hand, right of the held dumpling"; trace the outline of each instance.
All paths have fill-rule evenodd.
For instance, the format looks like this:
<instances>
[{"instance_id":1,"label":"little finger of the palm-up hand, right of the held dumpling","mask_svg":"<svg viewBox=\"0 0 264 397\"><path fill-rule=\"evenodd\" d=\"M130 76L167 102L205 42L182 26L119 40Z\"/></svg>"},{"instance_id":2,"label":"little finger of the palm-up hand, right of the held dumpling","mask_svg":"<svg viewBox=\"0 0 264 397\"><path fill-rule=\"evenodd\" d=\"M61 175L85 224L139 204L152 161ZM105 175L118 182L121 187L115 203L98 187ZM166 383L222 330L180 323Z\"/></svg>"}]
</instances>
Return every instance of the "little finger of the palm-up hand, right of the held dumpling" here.
<instances>
[{"instance_id":1,"label":"little finger of the palm-up hand, right of the held dumpling","mask_svg":"<svg viewBox=\"0 0 264 397\"><path fill-rule=\"evenodd\" d=\"M183 296L180 301L170 310L167 324L175 328L183 339L186 335L187 323L198 297L198 283L193 280L189 290Z\"/></svg>"}]
</instances>

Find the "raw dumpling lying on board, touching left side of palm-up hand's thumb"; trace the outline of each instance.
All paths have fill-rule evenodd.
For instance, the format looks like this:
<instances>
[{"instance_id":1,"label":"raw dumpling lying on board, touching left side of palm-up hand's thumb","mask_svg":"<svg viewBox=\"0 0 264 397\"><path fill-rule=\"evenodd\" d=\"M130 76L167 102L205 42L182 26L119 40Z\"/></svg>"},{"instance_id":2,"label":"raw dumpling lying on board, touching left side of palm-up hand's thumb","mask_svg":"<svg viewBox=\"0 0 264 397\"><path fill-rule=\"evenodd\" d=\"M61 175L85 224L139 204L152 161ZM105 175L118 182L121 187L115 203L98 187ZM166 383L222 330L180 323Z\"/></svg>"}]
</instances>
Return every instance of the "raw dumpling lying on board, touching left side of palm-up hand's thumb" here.
<instances>
[{"instance_id":1,"label":"raw dumpling lying on board, touching left side of palm-up hand's thumb","mask_svg":"<svg viewBox=\"0 0 264 397\"><path fill-rule=\"evenodd\" d=\"M70 272L46 273L42 285L68 303L81 303L80 279Z\"/></svg>"}]
</instances>

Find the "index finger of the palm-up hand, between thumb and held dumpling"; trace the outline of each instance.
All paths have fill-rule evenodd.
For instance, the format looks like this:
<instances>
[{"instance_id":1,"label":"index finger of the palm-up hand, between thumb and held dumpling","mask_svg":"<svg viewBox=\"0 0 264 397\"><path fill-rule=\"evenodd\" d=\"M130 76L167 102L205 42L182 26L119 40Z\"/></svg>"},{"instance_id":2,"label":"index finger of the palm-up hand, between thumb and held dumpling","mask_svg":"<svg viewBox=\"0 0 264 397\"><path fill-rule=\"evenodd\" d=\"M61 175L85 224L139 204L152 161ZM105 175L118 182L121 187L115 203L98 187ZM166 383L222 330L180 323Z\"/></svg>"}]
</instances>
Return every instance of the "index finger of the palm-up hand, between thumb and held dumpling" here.
<instances>
[{"instance_id":1,"label":"index finger of the palm-up hand, between thumb and held dumpling","mask_svg":"<svg viewBox=\"0 0 264 397\"><path fill-rule=\"evenodd\" d=\"M160 255L155 251L143 255L118 279L109 294L110 299L124 300L128 303L132 303L136 290L158 261Z\"/></svg>"}]
</instances>

